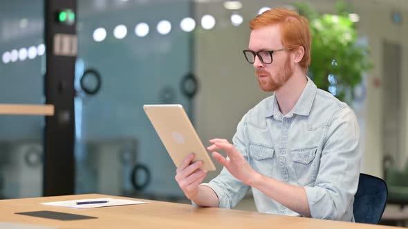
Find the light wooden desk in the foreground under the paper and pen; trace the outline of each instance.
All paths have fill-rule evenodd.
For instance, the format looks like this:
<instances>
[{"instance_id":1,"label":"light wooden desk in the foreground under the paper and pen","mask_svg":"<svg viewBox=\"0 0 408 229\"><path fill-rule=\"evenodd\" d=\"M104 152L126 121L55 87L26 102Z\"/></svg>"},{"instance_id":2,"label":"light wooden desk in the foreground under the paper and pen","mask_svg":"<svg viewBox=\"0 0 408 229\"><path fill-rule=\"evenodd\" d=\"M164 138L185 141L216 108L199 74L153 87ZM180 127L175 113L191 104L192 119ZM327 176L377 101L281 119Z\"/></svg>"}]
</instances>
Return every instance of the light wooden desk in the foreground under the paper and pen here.
<instances>
[{"instance_id":1,"label":"light wooden desk in the foreground under the paper and pen","mask_svg":"<svg viewBox=\"0 0 408 229\"><path fill-rule=\"evenodd\" d=\"M113 206L107 208L71 209L53 206L43 206L39 203L49 201L63 201L72 199L113 197L108 195L72 195L60 197L39 197L30 199L6 199L0 201L0 221L15 223L30 223L56 228L395 228L375 226L362 223L347 223L302 217L286 217L261 214L241 210L219 208L198 208L188 204L167 203L162 201L148 201L147 204L130 206ZM131 199L125 197L113 197ZM84 219L77 221L58 221L15 215L15 212L36 210L51 210L68 212L78 215L98 217L98 219Z\"/></svg>"}]
</instances>

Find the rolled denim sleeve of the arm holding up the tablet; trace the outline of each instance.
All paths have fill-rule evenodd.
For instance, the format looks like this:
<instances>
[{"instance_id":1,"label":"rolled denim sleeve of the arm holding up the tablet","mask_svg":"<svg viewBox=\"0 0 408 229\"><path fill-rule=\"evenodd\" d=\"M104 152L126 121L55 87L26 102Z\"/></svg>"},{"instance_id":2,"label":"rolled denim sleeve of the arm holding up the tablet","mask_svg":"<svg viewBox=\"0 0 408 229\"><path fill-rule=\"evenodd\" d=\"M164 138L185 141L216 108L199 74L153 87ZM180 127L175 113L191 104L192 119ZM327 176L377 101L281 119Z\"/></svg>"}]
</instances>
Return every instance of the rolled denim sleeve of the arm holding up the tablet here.
<instances>
[{"instance_id":1,"label":"rolled denim sleeve of the arm holding up the tablet","mask_svg":"<svg viewBox=\"0 0 408 229\"><path fill-rule=\"evenodd\" d=\"M232 142L235 148L241 152L245 160L248 161L245 144L245 116L239 122L237 132L232 138ZM219 208L234 208L250 189L250 186L245 185L245 183L232 176L226 168L223 168L220 175L212 179L209 183L201 183L201 185L208 186L214 190L219 198Z\"/></svg>"}]
</instances>

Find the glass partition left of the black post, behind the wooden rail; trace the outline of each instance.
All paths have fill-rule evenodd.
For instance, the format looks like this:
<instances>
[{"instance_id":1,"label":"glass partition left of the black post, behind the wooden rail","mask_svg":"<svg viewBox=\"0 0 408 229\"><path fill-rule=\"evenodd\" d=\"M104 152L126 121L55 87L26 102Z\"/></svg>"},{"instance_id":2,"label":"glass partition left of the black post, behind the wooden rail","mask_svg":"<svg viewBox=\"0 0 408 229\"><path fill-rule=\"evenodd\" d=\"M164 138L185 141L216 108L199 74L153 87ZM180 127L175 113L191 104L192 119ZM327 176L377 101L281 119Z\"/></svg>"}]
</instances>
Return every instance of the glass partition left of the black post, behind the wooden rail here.
<instances>
[{"instance_id":1,"label":"glass partition left of the black post, behind the wooden rail","mask_svg":"<svg viewBox=\"0 0 408 229\"><path fill-rule=\"evenodd\" d=\"M0 3L0 103L44 103L44 2ZM0 198L42 195L44 117L0 115Z\"/></svg>"}]
</instances>

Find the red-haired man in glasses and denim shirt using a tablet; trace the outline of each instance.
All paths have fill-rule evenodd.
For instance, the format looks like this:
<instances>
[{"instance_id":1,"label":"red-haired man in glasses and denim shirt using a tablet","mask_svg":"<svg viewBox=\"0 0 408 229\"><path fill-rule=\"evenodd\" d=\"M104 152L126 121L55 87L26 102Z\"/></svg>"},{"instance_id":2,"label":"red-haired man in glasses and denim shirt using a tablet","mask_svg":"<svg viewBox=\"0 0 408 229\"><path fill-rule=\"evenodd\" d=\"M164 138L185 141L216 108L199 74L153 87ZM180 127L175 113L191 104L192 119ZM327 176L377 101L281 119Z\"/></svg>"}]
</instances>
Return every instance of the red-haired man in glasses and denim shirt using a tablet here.
<instances>
[{"instance_id":1,"label":"red-haired man in glasses and denim shirt using a tablet","mask_svg":"<svg viewBox=\"0 0 408 229\"><path fill-rule=\"evenodd\" d=\"M250 28L245 58L261 90L275 94L243 117L233 145L210 140L207 150L224 166L218 177L201 183L207 171L189 155L178 166L176 181L198 206L233 208L252 188L259 212L354 221L362 156L358 123L346 103L306 76L308 20L275 8L250 21Z\"/></svg>"}]
</instances>

